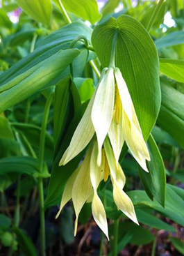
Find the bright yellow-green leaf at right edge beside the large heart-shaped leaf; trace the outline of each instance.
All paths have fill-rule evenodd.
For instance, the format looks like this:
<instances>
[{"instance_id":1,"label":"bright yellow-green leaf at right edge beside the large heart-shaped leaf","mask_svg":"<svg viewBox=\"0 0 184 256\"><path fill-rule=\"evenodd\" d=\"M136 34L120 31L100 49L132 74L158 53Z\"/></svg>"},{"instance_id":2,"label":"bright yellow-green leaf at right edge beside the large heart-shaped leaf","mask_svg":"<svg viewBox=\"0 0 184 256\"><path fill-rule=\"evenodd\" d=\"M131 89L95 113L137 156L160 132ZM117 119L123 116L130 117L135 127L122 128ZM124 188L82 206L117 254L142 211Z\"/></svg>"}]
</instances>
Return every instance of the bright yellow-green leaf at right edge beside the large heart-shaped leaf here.
<instances>
[{"instance_id":1,"label":"bright yellow-green leaf at right edge beside the large heart-shaped leaf","mask_svg":"<svg viewBox=\"0 0 184 256\"><path fill-rule=\"evenodd\" d=\"M178 59L160 59L160 72L167 77L184 83L184 61Z\"/></svg>"}]
</instances>

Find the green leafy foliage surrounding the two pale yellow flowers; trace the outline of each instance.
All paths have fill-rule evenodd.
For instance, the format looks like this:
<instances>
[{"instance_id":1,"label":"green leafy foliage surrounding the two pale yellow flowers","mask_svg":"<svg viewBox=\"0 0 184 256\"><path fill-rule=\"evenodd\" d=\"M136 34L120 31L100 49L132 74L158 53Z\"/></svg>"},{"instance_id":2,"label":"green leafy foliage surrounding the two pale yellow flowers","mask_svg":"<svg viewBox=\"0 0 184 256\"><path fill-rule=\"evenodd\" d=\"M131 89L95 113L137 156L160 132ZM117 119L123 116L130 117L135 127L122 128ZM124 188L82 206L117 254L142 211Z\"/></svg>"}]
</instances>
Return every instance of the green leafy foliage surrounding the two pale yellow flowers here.
<instances>
[{"instance_id":1,"label":"green leafy foliage surrounding the two pale yellow flowers","mask_svg":"<svg viewBox=\"0 0 184 256\"><path fill-rule=\"evenodd\" d=\"M18 7L23 12L14 24L10 12ZM121 10L117 13L116 8ZM167 27L166 13L172 15L173 27ZM99 255L115 256L127 245L135 254L136 248L149 245L153 256L160 253L156 243L163 233L170 253L177 250L184 255L180 239L184 226L183 13L182 0L136 4L108 0L101 10L96 0L1 1L2 255L44 256L45 251L47 255L60 250L63 255L76 251L79 255L98 243ZM112 177L105 182L101 176L97 192L109 219L110 242L106 243L103 234L99 241L99 229L91 218L92 196L79 215L77 238L70 203L60 218L54 217L87 146L67 165L59 166L60 159L97 89L101 70L112 65L113 51L151 160L149 172L144 172L126 143L119 157L126 176L122 189L133 202L140 226L117 209ZM116 91L115 103L117 98ZM114 114L116 108L118 103ZM91 251L98 254L97 247Z\"/></svg>"}]
</instances>

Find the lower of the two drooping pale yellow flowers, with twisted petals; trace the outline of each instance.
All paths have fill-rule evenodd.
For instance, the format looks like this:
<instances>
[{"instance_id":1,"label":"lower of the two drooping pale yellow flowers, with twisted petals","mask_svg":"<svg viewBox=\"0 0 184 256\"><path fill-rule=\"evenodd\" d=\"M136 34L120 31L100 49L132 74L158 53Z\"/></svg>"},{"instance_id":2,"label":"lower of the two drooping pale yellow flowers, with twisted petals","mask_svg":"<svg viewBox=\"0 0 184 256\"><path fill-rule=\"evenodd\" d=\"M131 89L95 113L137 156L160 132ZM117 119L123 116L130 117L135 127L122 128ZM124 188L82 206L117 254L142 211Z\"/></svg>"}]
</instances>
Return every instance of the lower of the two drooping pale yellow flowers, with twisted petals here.
<instances>
[{"instance_id":1,"label":"lower of the two drooping pale yellow flowers, with twisted petals","mask_svg":"<svg viewBox=\"0 0 184 256\"><path fill-rule=\"evenodd\" d=\"M97 164L97 140L90 142L83 163L81 163L78 169L69 177L62 194L60 210L56 218L59 216L63 206L72 199L76 213L74 235L76 235L78 215L83 205L85 202L92 202L92 215L94 220L108 237L106 211L97 194L97 188L102 179L107 181L109 174L113 186L113 198L117 208L138 224L133 203L123 190L126 181L124 172L122 167L116 164L115 156L108 138L104 141L103 146L104 149L101 150L101 166L99 167Z\"/></svg>"}]
</instances>

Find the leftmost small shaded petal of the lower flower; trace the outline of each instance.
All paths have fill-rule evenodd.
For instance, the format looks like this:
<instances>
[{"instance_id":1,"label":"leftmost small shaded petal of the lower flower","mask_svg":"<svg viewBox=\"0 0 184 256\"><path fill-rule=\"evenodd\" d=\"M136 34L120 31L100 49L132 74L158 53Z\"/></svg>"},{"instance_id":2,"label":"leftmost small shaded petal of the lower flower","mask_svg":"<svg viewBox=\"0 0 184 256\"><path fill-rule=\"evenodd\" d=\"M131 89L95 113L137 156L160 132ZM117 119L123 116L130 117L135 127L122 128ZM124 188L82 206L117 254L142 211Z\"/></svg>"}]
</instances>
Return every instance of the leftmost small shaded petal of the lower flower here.
<instances>
[{"instance_id":1,"label":"leftmost small shaded petal of the lower flower","mask_svg":"<svg viewBox=\"0 0 184 256\"><path fill-rule=\"evenodd\" d=\"M56 215L56 218L60 215L60 212L62 211L62 208L69 202L69 200L72 198L72 188L74 186L74 181L76 179L76 176L78 174L79 167L75 170L75 172L69 177L67 180L67 183L65 185L65 189L62 193L62 199L60 202L60 209Z\"/></svg>"}]
</instances>

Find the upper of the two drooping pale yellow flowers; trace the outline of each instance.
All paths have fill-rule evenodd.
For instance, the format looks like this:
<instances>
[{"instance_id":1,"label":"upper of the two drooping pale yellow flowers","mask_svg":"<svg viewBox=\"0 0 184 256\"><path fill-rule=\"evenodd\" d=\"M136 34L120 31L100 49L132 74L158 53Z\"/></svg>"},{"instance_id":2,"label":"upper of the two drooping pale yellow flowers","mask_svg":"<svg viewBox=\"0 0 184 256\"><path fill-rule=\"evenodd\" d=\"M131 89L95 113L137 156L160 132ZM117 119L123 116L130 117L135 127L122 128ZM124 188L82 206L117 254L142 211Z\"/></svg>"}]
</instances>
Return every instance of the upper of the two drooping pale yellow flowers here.
<instances>
[{"instance_id":1,"label":"upper of the two drooping pale yellow flowers","mask_svg":"<svg viewBox=\"0 0 184 256\"><path fill-rule=\"evenodd\" d=\"M78 123L69 147L60 160L60 165L65 165L85 149L94 133L98 140L99 165L101 165L101 148L108 135L117 165L125 141L137 163L148 172L146 160L150 160L149 151L119 68L103 70L97 90Z\"/></svg>"}]
</instances>

